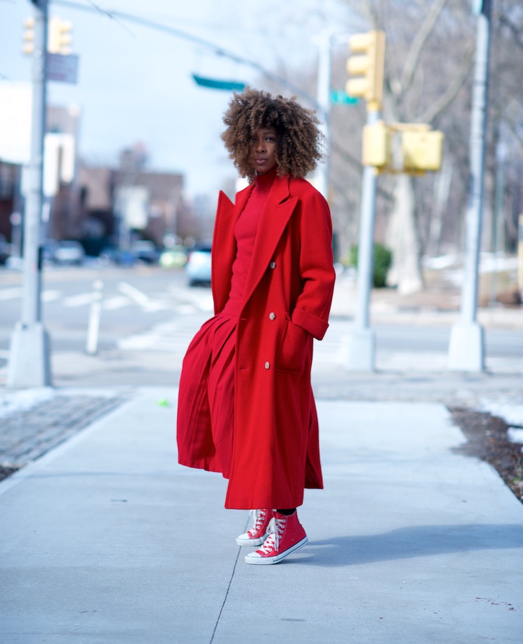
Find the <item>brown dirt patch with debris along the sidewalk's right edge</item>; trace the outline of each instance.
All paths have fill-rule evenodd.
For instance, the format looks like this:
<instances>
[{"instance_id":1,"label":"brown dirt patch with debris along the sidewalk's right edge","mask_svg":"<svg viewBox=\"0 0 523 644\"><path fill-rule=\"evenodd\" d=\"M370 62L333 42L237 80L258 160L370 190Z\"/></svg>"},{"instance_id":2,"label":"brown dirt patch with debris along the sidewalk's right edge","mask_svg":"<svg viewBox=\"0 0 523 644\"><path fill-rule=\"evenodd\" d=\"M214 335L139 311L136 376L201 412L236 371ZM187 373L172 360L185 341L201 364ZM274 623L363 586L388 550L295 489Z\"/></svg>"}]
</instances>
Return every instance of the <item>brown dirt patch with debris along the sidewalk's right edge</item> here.
<instances>
[{"instance_id":1,"label":"brown dirt patch with debris along the sidewalk's right edge","mask_svg":"<svg viewBox=\"0 0 523 644\"><path fill-rule=\"evenodd\" d=\"M503 481L523 502L522 444L508 440L508 425L487 412L450 407L450 413L468 442L455 451L490 463Z\"/></svg>"}]
</instances>

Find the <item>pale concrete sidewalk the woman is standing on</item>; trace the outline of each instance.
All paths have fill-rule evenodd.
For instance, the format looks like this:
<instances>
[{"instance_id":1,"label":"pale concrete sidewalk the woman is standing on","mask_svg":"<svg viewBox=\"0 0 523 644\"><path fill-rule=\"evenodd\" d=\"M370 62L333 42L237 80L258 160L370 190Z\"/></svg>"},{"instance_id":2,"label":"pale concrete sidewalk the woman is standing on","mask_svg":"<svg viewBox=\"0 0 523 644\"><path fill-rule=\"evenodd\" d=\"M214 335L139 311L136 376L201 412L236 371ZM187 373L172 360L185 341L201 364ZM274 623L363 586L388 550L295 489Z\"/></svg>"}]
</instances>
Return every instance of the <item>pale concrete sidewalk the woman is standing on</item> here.
<instances>
[{"instance_id":1,"label":"pale concrete sidewalk the woman is standing on","mask_svg":"<svg viewBox=\"0 0 523 644\"><path fill-rule=\"evenodd\" d=\"M443 405L318 400L309 544L255 567L226 481L176 464L175 403L139 389L0 483L0 641L520 644L523 506Z\"/></svg>"}]
</instances>

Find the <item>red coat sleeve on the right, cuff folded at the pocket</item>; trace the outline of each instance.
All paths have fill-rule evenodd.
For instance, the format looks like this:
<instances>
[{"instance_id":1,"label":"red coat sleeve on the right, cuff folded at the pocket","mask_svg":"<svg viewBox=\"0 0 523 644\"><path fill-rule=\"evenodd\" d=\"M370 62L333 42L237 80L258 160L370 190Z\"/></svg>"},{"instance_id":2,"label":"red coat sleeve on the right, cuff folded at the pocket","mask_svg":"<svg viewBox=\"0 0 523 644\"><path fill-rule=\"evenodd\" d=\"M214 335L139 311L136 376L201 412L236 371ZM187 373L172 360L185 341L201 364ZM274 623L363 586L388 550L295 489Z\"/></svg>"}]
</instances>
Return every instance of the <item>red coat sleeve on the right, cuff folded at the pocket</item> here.
<instances>
[{"instance_id":1,"label":"red coat sleeve on the right, cuff folded at the pocket","mask_svg":"<svg viewBox=\"0 0 523 644\"><path fill-rule=\"evenodd\" d=\"M321 340L328 328L335 272L331 212L324 197L314 188L302 200L300 234L303 289L291 312L291 322Z\"/></svg>"}]
</instances>

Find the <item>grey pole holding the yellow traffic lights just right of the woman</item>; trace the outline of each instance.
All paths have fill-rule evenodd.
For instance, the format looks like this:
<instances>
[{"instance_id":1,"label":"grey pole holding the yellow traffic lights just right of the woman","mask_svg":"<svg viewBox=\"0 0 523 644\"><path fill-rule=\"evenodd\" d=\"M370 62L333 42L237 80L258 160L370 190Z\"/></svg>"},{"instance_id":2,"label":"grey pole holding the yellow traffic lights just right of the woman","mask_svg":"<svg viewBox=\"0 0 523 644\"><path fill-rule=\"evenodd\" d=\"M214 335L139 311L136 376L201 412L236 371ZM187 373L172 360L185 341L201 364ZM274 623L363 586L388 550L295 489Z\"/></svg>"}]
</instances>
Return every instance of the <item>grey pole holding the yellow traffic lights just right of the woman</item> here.
<instances>
[{"instance_id":1,"label":"grey pole holding the yellow traffic lights just right of the woman","mask_svg":"<svg viewBox=\"0 0 523 644\"><path fill-rule=\"evenodd\" d=\"M379 106L367 103L367 125L379 121ZM347 346L349 371L374 371L375 338L370 327L370 293L374 259L374 218L376 213L377 174L371 165L363 167L360 230L358 239L358 281L356 314Z\"/></svg>"}]
</instances>

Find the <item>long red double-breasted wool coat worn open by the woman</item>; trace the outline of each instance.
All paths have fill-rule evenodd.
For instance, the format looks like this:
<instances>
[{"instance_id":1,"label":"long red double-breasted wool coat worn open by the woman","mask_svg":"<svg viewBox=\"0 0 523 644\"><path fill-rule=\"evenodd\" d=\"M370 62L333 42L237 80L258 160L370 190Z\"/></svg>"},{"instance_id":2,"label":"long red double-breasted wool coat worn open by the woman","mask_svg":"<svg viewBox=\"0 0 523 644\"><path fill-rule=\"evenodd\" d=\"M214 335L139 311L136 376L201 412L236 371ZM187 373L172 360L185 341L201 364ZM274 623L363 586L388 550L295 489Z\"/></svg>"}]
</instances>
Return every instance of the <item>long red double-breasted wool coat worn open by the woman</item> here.
<instances>
[{"instance_id":1,"label":"long red double-breasted wool coat worn open by the woman","mask_svg":"<svg viewBox=\"0 0 523 644\"><path fill-rule=\"evenodd\" d=\"M220 193L212 255L215 313L229 296L234 225L252 187L236 195L236 204ZM312 338L321 340L328 327L334 280L324 197L305 179L276 177L261 212L238 317L227 508L298 507L304 487L323 487L310 369ZM206 376L195 376L201 377L195 399L183 406L198 412L188 426L179 425L179 462L219 472Z\"/></svg>"}]
</instances>

